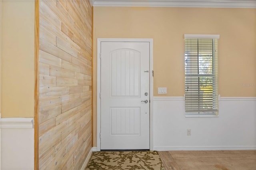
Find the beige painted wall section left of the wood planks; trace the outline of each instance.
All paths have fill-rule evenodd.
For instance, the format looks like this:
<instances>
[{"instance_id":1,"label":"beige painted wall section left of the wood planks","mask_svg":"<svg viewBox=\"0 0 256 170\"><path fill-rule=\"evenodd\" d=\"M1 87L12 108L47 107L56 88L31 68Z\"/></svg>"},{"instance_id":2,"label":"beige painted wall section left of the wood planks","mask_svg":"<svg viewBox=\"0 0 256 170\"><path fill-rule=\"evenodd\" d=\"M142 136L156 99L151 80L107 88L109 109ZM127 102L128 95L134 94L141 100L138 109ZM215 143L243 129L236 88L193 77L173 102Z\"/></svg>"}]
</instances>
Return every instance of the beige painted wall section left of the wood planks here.
<instances>
[{"instance_id":1,"label":"beige painted wall section left of the wood planks","mask_svg":"<svg viewBox=\"0 0 256 170\"><path fill-rule=\"evenodd\" d=\"M1 115L34 117L34 1L2 1Z\"/></svg>"}]
</instances>

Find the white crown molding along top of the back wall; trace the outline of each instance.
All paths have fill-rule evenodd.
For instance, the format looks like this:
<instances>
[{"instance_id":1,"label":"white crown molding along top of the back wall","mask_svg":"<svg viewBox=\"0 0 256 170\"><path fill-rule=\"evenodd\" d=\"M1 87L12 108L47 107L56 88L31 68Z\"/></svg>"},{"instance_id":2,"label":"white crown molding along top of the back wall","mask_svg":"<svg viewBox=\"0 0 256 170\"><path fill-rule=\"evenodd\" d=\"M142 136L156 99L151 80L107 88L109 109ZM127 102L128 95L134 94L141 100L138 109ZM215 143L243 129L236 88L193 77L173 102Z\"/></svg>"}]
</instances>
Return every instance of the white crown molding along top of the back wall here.
<instances>
[{"instance_id":1,"label":"white crown molding along top of the back wall","mask_svg":"<svg viewBox=\"0 0 256 170\"><path fill-rule=\"evenodd\" d=\"M256 0L90 0L92 6L256 8Z\"/></svg>"}]
</instances>

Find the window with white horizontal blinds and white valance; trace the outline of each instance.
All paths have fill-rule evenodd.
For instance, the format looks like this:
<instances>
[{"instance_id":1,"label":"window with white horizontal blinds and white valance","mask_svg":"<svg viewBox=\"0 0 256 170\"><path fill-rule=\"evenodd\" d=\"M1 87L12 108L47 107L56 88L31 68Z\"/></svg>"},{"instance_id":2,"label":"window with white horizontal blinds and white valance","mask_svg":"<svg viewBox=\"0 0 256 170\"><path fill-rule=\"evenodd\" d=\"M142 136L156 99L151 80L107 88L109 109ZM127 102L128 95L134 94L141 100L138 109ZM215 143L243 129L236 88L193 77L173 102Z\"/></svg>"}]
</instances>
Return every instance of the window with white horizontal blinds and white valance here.
<instances>
[{"instance_id":1,"label":"window with white horizontal blinds and white valance","mask_svg":"<svg viewBox=\"0 0 256 170\"><path fill-rule=\"evenodd\" d=\"M218 115L219 35L184 37L186 116Z\"/></svg>"}]
</instances>

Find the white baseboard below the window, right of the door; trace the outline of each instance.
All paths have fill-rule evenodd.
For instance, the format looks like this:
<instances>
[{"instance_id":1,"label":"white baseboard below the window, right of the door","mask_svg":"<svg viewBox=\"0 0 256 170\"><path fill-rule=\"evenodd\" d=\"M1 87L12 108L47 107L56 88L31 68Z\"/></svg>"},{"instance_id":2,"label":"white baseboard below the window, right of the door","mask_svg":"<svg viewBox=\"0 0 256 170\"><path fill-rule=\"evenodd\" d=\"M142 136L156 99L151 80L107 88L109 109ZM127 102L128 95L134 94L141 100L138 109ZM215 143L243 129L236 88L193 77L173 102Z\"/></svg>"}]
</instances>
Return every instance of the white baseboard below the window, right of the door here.
<instances>
[{"instance_id":1,"label":"white baseboard below the window, right of the door","mask_svg":"<svg viewBox=\"0 0 256 170\"><path fill-rule=\"evenodd\" d=\"M154 150L256 150L256 146L156 146Z\"/></svg>"}]
</instances>

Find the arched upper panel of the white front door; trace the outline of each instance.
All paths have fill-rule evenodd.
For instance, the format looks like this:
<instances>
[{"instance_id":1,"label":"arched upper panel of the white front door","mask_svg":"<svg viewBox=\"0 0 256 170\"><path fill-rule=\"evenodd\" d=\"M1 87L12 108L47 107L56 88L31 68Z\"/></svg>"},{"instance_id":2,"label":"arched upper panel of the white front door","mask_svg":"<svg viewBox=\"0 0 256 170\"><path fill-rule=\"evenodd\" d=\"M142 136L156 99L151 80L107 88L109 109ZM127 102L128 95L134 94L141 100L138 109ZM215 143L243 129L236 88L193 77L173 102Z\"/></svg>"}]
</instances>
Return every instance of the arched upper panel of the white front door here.
<instances>
[{"instance_id":1,"label":"arched upper panel of the white front door","mask_svg":"<svg viewBox=\"0 0 256 170\"><path fill-rule=\"evenodd\" d=\"M110 53L111 97L139 97L140 54L122 49Z\"/></svg>"}]
</instances>

